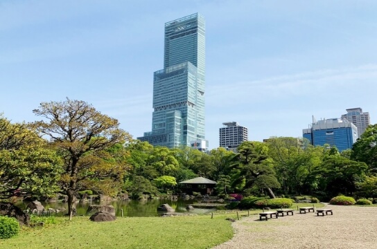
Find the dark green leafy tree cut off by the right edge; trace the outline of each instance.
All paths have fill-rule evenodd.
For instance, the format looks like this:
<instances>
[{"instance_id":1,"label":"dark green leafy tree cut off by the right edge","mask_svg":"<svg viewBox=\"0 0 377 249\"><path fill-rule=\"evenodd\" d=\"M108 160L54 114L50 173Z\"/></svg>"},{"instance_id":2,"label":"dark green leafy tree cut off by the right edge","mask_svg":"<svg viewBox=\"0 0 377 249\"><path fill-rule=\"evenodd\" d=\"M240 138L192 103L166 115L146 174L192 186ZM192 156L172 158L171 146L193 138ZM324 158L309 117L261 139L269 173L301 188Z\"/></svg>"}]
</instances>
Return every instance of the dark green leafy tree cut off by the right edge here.
<instances>
[{"instance_id":1,"label":"dark green leafy tree cut off by the right edge","mask_svg":"<svg viewBox=\"0 0 377 249\"><path fill-rule=\"evenodd\" d=\"M352 147L351 159L367 163L377 173L377 124L369 125Z\"/></svg>"}]
</instances>

